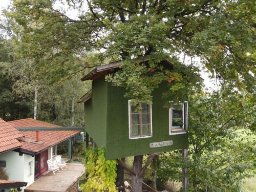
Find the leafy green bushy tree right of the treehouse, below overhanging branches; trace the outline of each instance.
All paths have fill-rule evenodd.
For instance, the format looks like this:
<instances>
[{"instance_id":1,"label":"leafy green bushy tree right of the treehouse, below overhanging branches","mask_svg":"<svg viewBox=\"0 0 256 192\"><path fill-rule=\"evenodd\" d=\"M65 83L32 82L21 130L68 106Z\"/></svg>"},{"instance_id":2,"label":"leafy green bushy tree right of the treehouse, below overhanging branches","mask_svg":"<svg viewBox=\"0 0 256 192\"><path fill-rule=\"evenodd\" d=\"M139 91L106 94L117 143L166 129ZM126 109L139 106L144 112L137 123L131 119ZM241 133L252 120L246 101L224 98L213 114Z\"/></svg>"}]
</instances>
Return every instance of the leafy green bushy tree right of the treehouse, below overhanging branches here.
<instances>
[{"instance_id":1,"label":"leafy green bushy tree right of the treehouse, below overhanging branches","mask_svg":"<svg viewBox=\"0 0 256 192\"><path fill-rule=\"evenodd\" d=\"M254 120L255 98L250 95L223 88L191 97L188 162L178 151L160 156L160 181L181 181L181 168L188 167L188 191L241 191L242 180L255 172Z\"/></svg>"}]
</instances>

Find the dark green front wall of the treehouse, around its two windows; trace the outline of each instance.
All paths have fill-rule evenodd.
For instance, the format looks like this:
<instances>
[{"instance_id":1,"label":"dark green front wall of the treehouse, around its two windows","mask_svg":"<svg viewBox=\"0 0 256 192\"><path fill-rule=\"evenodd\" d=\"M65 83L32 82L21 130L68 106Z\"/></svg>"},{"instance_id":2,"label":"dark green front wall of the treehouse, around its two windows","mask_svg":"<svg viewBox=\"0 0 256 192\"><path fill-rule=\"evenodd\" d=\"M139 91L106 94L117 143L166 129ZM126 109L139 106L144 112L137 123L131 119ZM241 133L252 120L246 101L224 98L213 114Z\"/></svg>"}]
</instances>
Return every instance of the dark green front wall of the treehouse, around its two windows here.
<instances>
[{"instance_id":1,"label":"dark green front wall of the treehouse, around its two windows","mask_svg":"<svg viewBox=\"0 0 256 192\"><path fill-rule=\"evenodd\" d=\"M153 93L151 138L129 139L128 99L124 90L108 83L108 126L106 131L106 159L151 154L188 147L187 134L169 135L169 110L164 108L162 93L167 89L162 84ZM173 140L172 146L150 148L151 142Z\"/></svg>"}]
</instances>

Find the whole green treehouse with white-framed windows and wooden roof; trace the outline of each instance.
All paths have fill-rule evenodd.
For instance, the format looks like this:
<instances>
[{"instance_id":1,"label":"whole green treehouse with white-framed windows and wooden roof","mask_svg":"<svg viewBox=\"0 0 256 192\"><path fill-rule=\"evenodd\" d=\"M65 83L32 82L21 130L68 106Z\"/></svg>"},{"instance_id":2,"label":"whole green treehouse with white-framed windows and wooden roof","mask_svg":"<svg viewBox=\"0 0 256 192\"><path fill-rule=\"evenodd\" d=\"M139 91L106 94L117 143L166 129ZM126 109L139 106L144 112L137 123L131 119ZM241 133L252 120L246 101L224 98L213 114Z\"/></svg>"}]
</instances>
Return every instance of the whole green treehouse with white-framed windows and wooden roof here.
<instances>
[{"instance_id":1,"label":"whole green treehouse with white-framed windows and wooden roof","mask_svg":"<svg viewBox=\"0 0 256 192\"><path fill-rule=\"evenodd\" d=\"M142 62L148 65L148 59ZM159 65L168 70L174 66L167 59ZM105 75L116 73L120 66L121 61L98 66L81 79L92 80L92 90L78 101L84 102L86 132L105 147L106 159L187 148L188 102L164 108L162 93L168 82L163 82L153 92L153 104L141 102L142 110L136 110L132 100L124 97L124 88L105 81Z\"/></svg>"}]
</instances>

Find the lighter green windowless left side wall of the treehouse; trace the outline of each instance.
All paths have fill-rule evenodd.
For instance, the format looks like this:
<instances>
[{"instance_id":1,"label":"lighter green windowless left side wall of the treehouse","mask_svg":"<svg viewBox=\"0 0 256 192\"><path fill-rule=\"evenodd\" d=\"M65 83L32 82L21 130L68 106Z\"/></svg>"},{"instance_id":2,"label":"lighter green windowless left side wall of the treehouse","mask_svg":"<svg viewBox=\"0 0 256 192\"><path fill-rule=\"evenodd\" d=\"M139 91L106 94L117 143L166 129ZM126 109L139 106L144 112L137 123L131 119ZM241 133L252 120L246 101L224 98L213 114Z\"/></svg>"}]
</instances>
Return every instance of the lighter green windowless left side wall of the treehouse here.
<instances>
[{"instance_id":1,"label":"lighter green windowless left side wall of the treehouse","mask_svg":"<svg viewBox=\"0 0 256 192\"><path fill-rule=\"evenodd\" d=\"M92 98L84 104L86 131L98 146L105 146L107 125L107 82L105 82L105 78L94 80L92 89Z\"/></svg>"}]
</instances>

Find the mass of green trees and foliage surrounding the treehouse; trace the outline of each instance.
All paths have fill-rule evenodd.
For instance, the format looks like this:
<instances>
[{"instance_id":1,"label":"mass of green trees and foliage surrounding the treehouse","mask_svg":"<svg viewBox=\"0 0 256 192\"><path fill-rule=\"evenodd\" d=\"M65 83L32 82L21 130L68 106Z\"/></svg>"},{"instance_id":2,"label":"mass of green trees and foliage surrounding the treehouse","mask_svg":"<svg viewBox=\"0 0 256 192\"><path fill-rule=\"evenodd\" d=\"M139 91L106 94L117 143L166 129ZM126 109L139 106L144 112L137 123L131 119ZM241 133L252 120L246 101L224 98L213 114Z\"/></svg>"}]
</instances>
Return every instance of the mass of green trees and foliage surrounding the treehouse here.
<instances>
[{"instance_id":1,"label":"mass of green trees and foliage surrounding the treehouse","mask_svg":"<svg viewBox=\"0 0 256 192\"><path fill-rule=\"evenodd\" d=\"M181 169L188 167L188 191L256 190L243 185L249 178L253 187L256 166L254 1L11 3L0 26L1 118L84 125L76 101L91 82L80 78L94 66L122 60L122 70L106 80L125 88L125 97L150 103L154 89L167 81L164 98L189 100L187 161L180 151L164 153L145 182L157 181L158 189L179 185ZM144 56L152 58L150 66L134 61ZM163 58L175 64L173 71L157 65ZM202 71L216 82L215 90L205 89ZM115 188L115 174L95 175L90 179L102 181L99 188ZM92 183L87 189L94 189Z\"/></svg>"}]
</instances>

